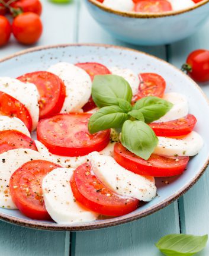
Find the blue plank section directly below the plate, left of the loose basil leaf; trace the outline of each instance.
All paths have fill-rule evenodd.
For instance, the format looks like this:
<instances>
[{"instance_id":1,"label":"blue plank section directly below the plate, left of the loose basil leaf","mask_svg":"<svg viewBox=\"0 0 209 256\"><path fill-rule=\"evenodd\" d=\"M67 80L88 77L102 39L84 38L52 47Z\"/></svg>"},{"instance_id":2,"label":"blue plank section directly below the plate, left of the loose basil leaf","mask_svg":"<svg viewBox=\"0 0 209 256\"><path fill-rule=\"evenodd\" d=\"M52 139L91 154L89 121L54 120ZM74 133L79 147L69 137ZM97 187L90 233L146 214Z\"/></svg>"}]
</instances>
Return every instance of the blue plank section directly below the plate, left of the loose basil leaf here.
<instances>
[{"instance_id":1,"label":"blue plank section directly below the plate, left of the loose basil leaf","mask_svg":"<svg viewBox=\"0 0 209 256\"><path fill-rule=\"evenodd\" d=\"M126 225L73 233L76 256L162 255L155 243L164 235L179 233L177 204Z\"/></svg>"}]
</instances>

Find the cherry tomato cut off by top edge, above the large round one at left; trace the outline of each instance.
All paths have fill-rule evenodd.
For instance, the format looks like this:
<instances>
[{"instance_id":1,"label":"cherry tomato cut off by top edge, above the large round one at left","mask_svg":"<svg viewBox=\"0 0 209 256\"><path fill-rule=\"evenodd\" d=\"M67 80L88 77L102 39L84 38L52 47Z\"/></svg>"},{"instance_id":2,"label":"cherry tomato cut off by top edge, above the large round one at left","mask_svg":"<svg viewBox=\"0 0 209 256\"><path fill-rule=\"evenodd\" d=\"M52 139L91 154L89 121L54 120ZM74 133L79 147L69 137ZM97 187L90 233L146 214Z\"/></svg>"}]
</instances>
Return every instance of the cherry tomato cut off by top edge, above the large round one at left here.
<instances>
[{"instance_id":1,"label":"cherry tomato cut off by top edge, above the large round one at left","mask_svg":"<svg viewBox=\"0 0 209 256\"><path fill-rule=\"evenodd\" d=\"M10 7L18 9L20 8L23 12L34 12L41 15L42 5L39 0L18 0L12 2Z\"/></svg>"}]
</instances>

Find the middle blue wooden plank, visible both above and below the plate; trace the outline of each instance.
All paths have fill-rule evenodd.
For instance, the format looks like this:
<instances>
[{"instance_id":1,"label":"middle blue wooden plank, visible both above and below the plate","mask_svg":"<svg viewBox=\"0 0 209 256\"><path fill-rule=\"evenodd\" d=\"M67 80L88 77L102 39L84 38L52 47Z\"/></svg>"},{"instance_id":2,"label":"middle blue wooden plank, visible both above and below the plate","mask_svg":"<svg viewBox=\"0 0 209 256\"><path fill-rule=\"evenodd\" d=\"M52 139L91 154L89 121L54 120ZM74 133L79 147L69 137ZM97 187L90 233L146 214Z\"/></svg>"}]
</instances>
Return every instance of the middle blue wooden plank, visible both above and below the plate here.
<instances>
[{"instance_id":1,"label":"middle blue wooden plank, visible both above and below the plate","mask_svg":"<svg viewBox=\"0 0 209 256\"><path fill-rule=\"evenodd\" d=\"M113 39L93 20L83 2L79 12L78 42L121 45L166 58L164 46L136 47ZM179 232L178 218L178 204L173 203L152 216L136 222L108 229L73 233L75 244L71 252L76 256L161 255L154 244L163 235Z\"/></svg>"}]
</instances>

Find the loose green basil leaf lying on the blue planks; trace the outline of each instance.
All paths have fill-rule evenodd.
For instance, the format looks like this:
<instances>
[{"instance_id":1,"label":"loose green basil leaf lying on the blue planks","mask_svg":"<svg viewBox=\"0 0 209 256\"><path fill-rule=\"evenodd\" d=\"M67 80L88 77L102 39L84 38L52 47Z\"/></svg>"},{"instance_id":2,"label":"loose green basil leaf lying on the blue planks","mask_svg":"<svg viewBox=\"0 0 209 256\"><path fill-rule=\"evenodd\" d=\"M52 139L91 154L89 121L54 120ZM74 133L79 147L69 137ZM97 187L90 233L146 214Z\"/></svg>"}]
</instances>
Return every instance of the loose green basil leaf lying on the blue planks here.
<instances>
[{"instance_id":1,"label":"loose green basil leaf lying on the blue planks","mask_svg":"<svg viewBox=\"0 0 209 256\"><path fill-rule=\"evenodd\" d=\"M163 236L155 245L166 256L191 256L202 251L207 241L208 235L172 234Z\"/></svg>"}]
</instances>

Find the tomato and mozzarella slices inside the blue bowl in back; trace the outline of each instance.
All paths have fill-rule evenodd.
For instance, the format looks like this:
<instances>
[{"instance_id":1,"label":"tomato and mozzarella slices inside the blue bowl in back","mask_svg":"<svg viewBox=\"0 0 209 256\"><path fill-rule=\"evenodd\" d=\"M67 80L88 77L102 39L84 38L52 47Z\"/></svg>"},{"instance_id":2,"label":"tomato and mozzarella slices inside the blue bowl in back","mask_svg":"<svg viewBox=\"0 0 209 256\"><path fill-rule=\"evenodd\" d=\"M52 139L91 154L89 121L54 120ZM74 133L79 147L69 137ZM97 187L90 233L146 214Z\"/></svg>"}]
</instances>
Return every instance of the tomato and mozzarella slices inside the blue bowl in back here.
<instances>
[{"instance_id":1,"label":"tomato and mozzarella slices inside the blue bowl in back","mask_svg":"<svg viewBox=\"0 0 209 256\"><path fill-rule=\"evenodd\" d=\"M179 11L185 8L193 7L202 0L97 0L105 5L118 11L125 12L167 12Z\"/></svg>"}]
</instances>

